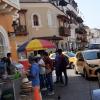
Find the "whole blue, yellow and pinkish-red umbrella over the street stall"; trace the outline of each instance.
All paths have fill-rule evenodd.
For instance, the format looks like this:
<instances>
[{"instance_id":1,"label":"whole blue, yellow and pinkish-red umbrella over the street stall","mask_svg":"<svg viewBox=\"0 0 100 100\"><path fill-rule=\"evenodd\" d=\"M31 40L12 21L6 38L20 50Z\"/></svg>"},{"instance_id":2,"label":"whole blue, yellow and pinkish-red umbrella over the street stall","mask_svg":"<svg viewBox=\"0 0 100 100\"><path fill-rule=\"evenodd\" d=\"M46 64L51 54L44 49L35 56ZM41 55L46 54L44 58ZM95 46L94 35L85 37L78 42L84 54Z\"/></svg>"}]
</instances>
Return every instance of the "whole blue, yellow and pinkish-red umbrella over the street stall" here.
<instances>
[{"instance_id":1,"label":"whole blue, yellow and pinkish-red umbrella over the street stall","mask_svg":"<svg viewBox=\"0 0 100 100\"><path fill-rule=\"evenodd\" d=\"M48 40L34 39L23 43L18 49L18 52L23 51L36 51L36 50L45 50L47 48L55 48L55 44Z\"/></svg>"}]
</instances>

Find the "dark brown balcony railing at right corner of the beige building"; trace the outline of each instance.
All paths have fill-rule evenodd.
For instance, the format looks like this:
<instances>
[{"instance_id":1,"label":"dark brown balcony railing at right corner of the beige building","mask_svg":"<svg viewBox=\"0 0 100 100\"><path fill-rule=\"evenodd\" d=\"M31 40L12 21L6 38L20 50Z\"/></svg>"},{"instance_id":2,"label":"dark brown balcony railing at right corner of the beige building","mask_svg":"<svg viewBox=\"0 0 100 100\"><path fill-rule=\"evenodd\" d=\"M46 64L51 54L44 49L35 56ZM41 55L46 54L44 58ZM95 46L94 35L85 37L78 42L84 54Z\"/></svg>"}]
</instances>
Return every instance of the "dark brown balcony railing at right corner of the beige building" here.
<instances>
[{"instance_id":1,"label":"dark brown balcony railing at right corner of the beige building","mask_svg":"<svg viewBox=\"0 0 100 100\"><path fill-rule=\"evenodd\" d=\"M60 36L65 36L65 37L70 36L71 35L70 34L70 29L67 28L67 27L63 27L63 26L59 27L59 35Z\"/></svg>"}]
</instances>

